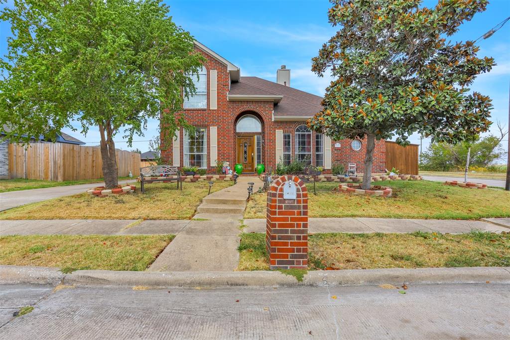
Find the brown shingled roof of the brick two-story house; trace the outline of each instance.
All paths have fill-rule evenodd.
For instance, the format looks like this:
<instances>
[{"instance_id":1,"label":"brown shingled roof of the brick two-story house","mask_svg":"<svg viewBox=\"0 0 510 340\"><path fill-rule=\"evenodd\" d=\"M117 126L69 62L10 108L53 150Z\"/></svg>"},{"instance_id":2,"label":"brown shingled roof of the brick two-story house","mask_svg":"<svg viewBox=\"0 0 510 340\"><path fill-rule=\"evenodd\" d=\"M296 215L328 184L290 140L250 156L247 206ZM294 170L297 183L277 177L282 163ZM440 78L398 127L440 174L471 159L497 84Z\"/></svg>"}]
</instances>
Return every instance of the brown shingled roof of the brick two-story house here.
<instances>
[{"instance_id":1,"label":"brown shingled roof of the brick two-story house","mask_svg":"<svg viewBox=\"0 0 510 340\"><path fill-rule=\"evenodd\" d=\"M231 84L228 95L280 96L274 105L274 120L308 119L322 110L322 97L258 77L241 77Z\"/></svg>"}]
</instances>

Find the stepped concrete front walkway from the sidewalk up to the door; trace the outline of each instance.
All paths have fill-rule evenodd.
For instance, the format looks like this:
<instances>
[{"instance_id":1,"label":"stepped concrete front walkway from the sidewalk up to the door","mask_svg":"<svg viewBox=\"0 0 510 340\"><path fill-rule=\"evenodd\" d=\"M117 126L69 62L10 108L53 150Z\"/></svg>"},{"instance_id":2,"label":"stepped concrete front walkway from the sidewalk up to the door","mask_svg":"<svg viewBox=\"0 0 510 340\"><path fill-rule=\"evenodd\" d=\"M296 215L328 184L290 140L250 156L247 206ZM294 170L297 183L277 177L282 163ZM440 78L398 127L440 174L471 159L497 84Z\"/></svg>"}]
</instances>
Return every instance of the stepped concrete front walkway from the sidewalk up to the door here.
<instances>
[{"instance_id":1,"label":"stepped concrete front walkway from the sidewalk up to the door","mask_svg":"<svg viewBox=\"0 0 510 340\"><path fill-rule=\"evenodd\" d=\"M248 198L248 182L254 183L253 192L264 186L258 177L239 177L236 184L203 198L202 204L196 209L198 213L193 218L241 220Z\"/></svg>"}]
</instances>

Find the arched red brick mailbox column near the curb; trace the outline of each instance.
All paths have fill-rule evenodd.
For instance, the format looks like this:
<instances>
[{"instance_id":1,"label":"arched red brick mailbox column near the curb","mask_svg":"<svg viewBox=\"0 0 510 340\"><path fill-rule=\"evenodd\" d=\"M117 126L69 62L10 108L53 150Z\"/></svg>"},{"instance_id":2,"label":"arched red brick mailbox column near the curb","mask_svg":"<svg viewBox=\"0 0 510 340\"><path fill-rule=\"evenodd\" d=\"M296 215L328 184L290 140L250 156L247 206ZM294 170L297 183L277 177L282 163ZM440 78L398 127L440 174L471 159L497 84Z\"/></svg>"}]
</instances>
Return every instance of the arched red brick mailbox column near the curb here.
<instances>
[{"instance_id":1,"label":"arched red brick mailbox column near the curb","mask_svg":"<svg viewBox=\"0 0 510 340\"><path fill-rule=\"evenodd\" d=\"M295 199L284 187L295 186ZM292 188L287 188L292 196ZM274 180L267 192L266 248L271 269L308 268L308 192L295 176Z\"/></svg>"}]
</instances>

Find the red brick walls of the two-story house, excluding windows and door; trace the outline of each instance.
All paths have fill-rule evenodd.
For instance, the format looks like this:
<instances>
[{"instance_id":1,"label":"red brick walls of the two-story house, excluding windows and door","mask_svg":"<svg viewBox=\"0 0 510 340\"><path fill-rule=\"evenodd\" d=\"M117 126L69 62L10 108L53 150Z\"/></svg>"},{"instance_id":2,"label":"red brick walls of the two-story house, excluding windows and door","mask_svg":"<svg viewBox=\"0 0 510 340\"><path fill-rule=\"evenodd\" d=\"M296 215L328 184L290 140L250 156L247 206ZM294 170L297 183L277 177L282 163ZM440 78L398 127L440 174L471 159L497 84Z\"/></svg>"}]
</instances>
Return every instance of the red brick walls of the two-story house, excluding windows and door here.
<instances>
[{"instance_id":1,"label":"red brick walls of the two-story house, excluding windows and door","mask_svg":"<svg viewBox=\"0 0 510 340\"><path fill-rule=\"evenodd\" d=\"M236 123L237 120L244 114L252 114L257 116L262 123L262 133L254 133L262 135L262 163L265 164L266 170L276 167L276 132L275 130L283 130L283 133L291 134L291 152L292 159L294 159L295 149L295 129L299 125L305 124L305 121L292 121L282 122L273 120L273 101L228 101L227 93L230 90L230 76L227 67L213 56L196 48L207 59L205 67L207 69L207 109L183 109L177 113L177 116L184 114L188 123L195 127L208 128L207 135L209 138L209 127L217 127L217 159L218 161L230 162L231 167L237 163L237 150L236 150ZM210 70L217 71L217 109L210 109ZM315 112L311 112L312 116ZM163 113L164 114L164 113ZM252 133L253 134L253 133ZM241 133L239 133L241 135ZM246 133L244 133L246 135ZM162 158L168 163L173 162L172 145L165 145L165 138L162 140ZM351 148L350 140L339 141L340 148L335 147L336 141L331 141L331 164L343 164L347 168L348 163L356 163L358 173L363 172L363 163L365 158L365 143L362 141L362 148L359 151L354 151ZM208 173L214 173L215 168L211 166L210 162L210 145L208 141ZM180 133L180 166L184 164L184 133L181 129ZM312 164L315 164L315 132L312 133ZM373 173L384 172L386 165L386 146L385 141L376 141L374 152L374 164L372 168ZM328 173L328 169L325 169Z\"/></svg>"}]
</instances>

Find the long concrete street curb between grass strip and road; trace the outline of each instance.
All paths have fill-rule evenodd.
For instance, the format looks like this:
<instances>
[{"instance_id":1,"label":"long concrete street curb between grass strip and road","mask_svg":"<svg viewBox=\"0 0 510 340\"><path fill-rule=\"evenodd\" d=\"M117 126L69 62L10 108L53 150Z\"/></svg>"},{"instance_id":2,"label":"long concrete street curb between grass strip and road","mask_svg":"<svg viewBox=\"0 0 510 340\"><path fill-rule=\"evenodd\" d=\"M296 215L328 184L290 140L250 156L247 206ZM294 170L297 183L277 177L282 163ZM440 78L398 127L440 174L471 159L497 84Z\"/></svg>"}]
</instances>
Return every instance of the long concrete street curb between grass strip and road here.
<instances>
[{"instance_id":1,"label":"long concrete street curb between grass strip and road","mask_svg":"<svg viewBox=\"0 0 510 340\"><path fill-rule=\"evenodd\" d=\"M59 283L78 286L146 287L286 287L375 286L379 284L510 283L510 267L365 269L310 271L303 280L277 271L253 272L121 272L76 271L56 268L0 266L0 283Z\"/></svg>"}]
</instances>

